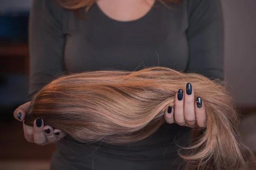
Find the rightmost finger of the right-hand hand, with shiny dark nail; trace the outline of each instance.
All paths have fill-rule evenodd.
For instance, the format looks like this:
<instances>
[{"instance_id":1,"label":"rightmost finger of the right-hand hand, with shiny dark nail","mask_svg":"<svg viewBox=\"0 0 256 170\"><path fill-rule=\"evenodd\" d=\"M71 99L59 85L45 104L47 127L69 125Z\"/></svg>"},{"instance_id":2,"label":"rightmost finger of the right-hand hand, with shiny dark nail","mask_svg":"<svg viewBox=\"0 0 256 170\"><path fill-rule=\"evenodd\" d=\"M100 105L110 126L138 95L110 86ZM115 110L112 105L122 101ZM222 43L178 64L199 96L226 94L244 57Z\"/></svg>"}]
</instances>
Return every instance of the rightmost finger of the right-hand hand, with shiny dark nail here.
<instances>
[{"instance_id":1,"label":"rightmost finger of the right-hand hand, with shiny dark nail","mask_svg":"<svg viewBox=\"0 0 256 170\"><path fill-rule=\"evenodd\" d=\"M207 114L206 114L204 103L203 103L201 97L197 97L196 98L196 102L195 102L195 115L196 115L197 125L199 127L206 127L206 124L207 124Z\"/></svg>"}]
</instances>

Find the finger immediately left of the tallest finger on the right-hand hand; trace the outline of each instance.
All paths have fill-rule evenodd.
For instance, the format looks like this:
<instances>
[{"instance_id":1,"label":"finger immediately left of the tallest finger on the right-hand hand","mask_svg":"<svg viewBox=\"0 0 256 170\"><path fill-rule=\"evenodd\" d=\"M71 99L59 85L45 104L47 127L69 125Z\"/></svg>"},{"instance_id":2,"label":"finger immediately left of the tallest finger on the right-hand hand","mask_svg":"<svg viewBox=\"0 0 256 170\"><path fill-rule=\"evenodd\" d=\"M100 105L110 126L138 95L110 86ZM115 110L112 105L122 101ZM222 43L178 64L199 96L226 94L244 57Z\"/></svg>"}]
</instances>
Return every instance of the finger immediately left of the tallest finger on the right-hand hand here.
<instances>
[{"instance_id":1,"label":"finger immediately left of the tallest finger on the right-hand hand","mask_svg":"<svg viewBox=\"0 0 256 170\"><path fill-rule=\"evenodd\" d=\"M175 96L175 107L174 107L174 119L175 122L180 125L186 125L184 118L184 99L183 90L179 90Z\"/></svg>"}]
</instances>

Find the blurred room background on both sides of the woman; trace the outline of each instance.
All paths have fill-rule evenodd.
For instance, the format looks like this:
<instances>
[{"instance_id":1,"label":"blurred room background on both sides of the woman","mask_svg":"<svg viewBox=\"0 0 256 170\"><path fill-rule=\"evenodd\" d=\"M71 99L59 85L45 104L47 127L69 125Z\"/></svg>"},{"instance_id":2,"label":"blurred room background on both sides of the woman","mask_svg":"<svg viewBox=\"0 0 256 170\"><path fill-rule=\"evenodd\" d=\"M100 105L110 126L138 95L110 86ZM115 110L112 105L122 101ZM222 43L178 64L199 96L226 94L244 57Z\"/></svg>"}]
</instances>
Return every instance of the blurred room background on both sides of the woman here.
<instances>
[{"instance_id":1,"label":"blurred room background on both sides of the woman","mask_svg":"<svg viewBox=\"0 0 256 170\"><path fill-rule=\"evenodd\" d=\"M54 145L26 142L13 118L28 101L28 18L32 0L0 0L0 170L47 170ZM256 152L256 0L223 0L224 74L242 115L240 133Z\"/></svg>"}]
</instances>

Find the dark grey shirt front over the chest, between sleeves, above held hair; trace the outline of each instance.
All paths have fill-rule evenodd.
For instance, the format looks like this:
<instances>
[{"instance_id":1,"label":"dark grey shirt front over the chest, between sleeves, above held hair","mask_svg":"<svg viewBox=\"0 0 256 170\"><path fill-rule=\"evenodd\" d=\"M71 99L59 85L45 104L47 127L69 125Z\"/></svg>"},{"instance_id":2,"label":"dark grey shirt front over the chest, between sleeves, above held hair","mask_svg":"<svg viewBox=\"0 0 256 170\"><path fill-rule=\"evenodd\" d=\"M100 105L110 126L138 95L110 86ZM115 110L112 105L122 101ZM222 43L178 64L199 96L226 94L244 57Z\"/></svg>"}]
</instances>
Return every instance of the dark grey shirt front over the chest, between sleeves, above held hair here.
<instances>
[{"instance_id":1,"label":"dark grey shirt front over the chest, between sleeves, above held hair","mask_svg":"<svg viewBox=\"0 0 256 170\"><path fill-rule=\"evenodd\" d=\"M156 4L155 4L156 5ZM66 14L67 71L135 70L148 66L186 69L187 19L183 6L157 4L137 20L118 21L94 5L81 20Z\"/></svg>"}]
</instances>

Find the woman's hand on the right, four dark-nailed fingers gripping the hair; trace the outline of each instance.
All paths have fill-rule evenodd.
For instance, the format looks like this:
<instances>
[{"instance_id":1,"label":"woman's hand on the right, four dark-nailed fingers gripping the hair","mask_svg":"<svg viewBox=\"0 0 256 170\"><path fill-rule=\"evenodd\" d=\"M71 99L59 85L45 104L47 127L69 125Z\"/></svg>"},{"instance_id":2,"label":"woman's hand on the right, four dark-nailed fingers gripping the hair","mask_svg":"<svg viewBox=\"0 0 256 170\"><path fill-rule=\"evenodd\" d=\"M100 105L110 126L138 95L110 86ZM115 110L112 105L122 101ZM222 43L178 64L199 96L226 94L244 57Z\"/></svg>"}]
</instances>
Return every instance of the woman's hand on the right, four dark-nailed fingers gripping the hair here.
<instances>
[{"instance_id":1,"label":"woman's hand on the right, four dark-nailed fingers gripping the hair","mask_svg":"<svg viewBox=\"0 0 256 170\"><path fill-rule=\"evenodd\" d=\"M168 123L180 126L206 127L207 115L202 99L198 96L195 101L192 85L186 85L186 92L180 89L175 97L175 107L166 108L165 119Z\"/></svg>"}]
</instances>

